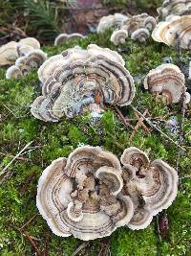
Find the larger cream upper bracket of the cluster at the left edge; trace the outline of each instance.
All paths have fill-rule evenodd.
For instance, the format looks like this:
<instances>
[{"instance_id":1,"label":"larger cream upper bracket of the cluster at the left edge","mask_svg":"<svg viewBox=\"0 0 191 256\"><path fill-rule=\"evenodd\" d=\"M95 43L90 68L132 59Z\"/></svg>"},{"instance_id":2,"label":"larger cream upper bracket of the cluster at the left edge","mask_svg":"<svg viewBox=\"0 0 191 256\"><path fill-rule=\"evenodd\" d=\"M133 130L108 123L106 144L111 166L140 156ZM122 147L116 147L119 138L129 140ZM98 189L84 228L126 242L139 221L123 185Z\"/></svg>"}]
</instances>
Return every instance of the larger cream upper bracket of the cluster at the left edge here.
<instances>
[{"instance_id":1,"label":"larger cream upper bracket of the cluster at the left edge","mask_svg":"<svg viewBox=\"0 0 191 256\"><path fill-rule=\"evenodd\" d=\"M11 41L0 47L0 66L13 64L17 58L39 48L38 40L33 37L23 38L19 42Z\"/></svg>"}]
</instances>

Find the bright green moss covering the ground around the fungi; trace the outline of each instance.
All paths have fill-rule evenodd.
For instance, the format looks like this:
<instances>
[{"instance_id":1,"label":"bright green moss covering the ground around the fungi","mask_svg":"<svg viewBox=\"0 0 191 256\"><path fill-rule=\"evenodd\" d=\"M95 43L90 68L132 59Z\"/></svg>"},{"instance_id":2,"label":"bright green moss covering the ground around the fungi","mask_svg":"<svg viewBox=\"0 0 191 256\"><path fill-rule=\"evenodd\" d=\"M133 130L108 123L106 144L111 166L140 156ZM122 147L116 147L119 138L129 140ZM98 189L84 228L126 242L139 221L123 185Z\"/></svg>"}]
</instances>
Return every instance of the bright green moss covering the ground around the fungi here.
<instances>
[{"instance_id":1,"label":"bright green moss covering the ground around the fungi","mask_svg":"<svg viewBox=\"0 0 191 256\"><path fill-rule=\"evenodd\" d=\"M115 47L110 43L109 34L90 35L86 39L69 42L61 47L45 47L44 50L52 56L69 47L79 44L83 48L89 43L96 43L102 47L113 50L122 50L122 57L126 61L126 68L132 76L141 77L151 68L157 67L165 57L171 57L174 63L178 63L177 52L165 45L155 43L150 39L146 45L128 41L121 47ZM120 48L120 49L119 49ZM182 53L185 64L188 64L188 54ZM152 95L143 91L142 84L136 84L137 94L133 105L140 112L148 109L152 118L163 116L164 121L171 116L181 119L181 105L167 107L162 103L156 103ZM118 119L115 111L108 106L102 119L97 123L90 121L89 115L80 116L73 120L63 118L58 123L44 123L32 117L30 105L36 95L40 93L40 86L36 72L33 72L23 80L5 80L5 70L0 70L0 157L1 168L10 161L10 155L16 155L27 143L33 141L31 151L22 155L28 161L15 160L9 172L10 178L0 187L0 255L20 256L34 255L31 244L17 230L24 223L34 219L25 226L36 239L36 244L42 249L47 233L50 233L48 242L48 255L72 255L75 248L82 242L70 238L59 238L53 235L46 221L39 215L35 205L36 186L42 171L60 156L68 156L79 144L101 146L105 150L112 151L120 156L123 149L129 146L137 146L147 151L151 159L160 157L171 166L177 166L179 149L174 144L163 138L154 129L145 134L142 128L133 140L129 140L132 133L131 128L126 128ZM131 107L121 109L129 118L135 118ZM186 111L184 120L183 145L186 151L180 156L179 169L182 177L182 186L179 188L178 198L167 210L169 219L169 238L159 242L156 228L156 219L152 224L141 231L132 231L127 227L118 228L110 238L110 251L113 256L128 255L190 255L191 251L191 179L185 177L190 175L191 157L191 111ZM132 121L132 125L136 125ZM164 128L165 122L158 122L169 136L172 136ZM190 135L189 135L190 134ZM178 137L174 136L175 141ZM2 156L2 153L7 155ZM80 255L98 255L104 240L91 242Z\"/></svg>"}]
</instances>

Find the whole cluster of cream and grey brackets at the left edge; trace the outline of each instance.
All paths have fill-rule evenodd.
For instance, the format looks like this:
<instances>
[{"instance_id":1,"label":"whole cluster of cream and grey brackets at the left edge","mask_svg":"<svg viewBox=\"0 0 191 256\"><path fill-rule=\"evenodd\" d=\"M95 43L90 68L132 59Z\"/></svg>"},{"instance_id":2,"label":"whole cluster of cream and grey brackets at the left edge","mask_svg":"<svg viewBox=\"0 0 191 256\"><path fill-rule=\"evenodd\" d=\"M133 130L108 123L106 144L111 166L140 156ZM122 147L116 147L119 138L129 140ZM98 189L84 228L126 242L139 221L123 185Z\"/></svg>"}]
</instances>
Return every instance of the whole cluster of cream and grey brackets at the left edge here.
<instances>
[{"instance_id":1,"label":"whole cluster of cream and grey brackets at the left edge","mask_svg":"<svg viewBox=\"0 0 191 256\"><path fill-rule=\"evenodd\" d=\"M0 48L0 65L11 65L6 78L20 78L27 75L32 69L37 69L46 60L47 55L40 50L40 43L33 37L11 41Z\"/></svg>"}]
</instances>

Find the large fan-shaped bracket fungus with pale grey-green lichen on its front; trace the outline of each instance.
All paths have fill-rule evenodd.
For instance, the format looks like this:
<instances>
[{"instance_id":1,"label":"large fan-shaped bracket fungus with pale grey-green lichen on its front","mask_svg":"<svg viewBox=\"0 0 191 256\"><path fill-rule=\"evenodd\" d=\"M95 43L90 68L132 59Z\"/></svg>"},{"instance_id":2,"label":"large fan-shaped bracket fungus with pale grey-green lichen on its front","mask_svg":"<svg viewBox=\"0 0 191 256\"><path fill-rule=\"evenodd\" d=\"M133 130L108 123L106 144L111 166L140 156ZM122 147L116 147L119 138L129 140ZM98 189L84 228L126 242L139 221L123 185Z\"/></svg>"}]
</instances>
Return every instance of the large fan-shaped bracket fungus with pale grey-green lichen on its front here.
<instances>
[{"instance_id":1,"label":"large fan-shaped bracket fungus with pale grey-green lichen on its front","mask_svg":"<svg viewBox=\"0 0 191 256\"><path fill-rule=\"evenodd\" d=\"M76 46L46 60L38 70L42 96L32 115L56 122L61 117L100 109L104 104L129 105L135 95L132 76L117 52L95 44Z\"/></svg>"}]
</instances>

